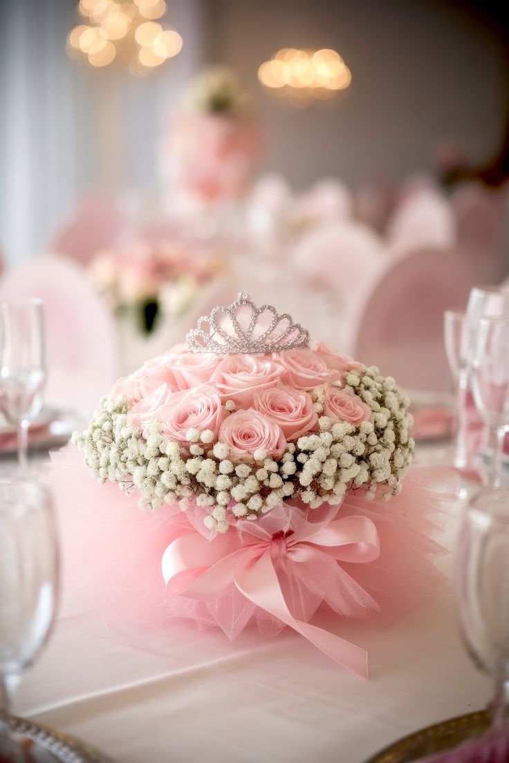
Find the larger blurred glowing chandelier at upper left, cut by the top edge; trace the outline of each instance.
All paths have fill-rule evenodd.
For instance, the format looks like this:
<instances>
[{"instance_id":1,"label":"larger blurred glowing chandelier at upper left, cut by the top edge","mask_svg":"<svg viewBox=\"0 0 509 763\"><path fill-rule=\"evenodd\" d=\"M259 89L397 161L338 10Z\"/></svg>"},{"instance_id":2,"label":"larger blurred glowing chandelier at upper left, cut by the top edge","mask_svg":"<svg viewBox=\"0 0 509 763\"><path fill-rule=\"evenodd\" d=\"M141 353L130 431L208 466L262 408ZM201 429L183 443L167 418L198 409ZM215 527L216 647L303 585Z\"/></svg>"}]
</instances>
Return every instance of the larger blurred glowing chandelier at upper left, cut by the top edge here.
<instances>
[{"instance_id":1,"label":"larger blurred glowing chandelier at upper left, cut by the top edge","mask_svg":"<svg viewBox=\"0 0 509 763\"><path fill-rule=\"evenodd\" d=\"M166 13L164 0L81 0L88 24L67 37L67 54L91 66L122 61L137 76L153 72L182 48L182 37L155 19Z\"/></svg>"}]
</instances>

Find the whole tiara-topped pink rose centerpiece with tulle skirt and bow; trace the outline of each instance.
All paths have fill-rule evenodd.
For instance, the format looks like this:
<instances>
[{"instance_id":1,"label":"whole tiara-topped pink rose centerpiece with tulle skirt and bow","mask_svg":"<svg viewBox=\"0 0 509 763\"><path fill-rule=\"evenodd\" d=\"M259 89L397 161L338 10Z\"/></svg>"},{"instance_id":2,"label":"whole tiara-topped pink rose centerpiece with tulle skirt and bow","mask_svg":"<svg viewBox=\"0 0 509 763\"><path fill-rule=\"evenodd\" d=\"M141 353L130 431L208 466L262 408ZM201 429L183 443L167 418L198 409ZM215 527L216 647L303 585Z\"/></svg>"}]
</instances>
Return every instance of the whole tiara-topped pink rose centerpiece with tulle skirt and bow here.
<instances>
[{"instance_id":1,"label":"whole tiara-topped pink rose centerpiece with tulle skirt and bow","mask_svg":"<svg viewBox=\"0 0 509 763\"><path fill-rule=\"evenodd\" d=\"M67 533L72 571L93 568L110 609L125 594L130 620L230 638L288 625L366 676L364 650L310 621L406 607L437 579L436 500L405 478L408 405L393 378L241 293L101 400L74 436L95 483L57 454L56 494L79 479L88 507Z\"/></svg>"}]
</instances>

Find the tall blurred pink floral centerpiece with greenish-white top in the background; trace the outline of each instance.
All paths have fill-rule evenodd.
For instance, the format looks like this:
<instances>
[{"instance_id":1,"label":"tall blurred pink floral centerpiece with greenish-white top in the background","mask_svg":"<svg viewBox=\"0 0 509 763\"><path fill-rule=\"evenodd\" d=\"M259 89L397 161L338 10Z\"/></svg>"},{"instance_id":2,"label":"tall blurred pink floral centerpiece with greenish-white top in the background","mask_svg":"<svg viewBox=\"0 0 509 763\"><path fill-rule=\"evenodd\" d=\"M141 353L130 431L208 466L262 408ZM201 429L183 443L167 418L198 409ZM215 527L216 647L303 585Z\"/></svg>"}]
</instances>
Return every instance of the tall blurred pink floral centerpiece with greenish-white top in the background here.
<instances>
[{"instance_id":1,"label":"tall blurred pink floral centerpiece with greenish-white top in the background","mask_svg":"<svg viewBox=\"0 0 509 763\"><path fill-rule=\"evenodd\" d=\"M205 69L161 141L160 166L172 208L240 198L260 148L253 103L240 79L226 66Z\"/></svg>"}]
</instances>

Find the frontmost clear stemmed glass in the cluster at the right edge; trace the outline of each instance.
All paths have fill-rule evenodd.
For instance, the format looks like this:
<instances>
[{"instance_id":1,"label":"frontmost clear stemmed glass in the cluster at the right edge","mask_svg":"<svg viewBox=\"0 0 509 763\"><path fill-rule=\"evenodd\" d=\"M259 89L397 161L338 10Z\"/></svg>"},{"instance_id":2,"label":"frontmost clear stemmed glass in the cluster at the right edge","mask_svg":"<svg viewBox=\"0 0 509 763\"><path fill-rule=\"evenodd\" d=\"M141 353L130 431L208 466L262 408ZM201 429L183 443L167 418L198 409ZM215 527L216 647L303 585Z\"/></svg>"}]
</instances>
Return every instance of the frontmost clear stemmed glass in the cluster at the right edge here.
<instances>
[{"instance_id":1,"label":"frontmost clear stemmed glass in the cluster at the right edge","mask_svg":"<svg viewBox=\"0 0 509 763\"><path fill-rule=\"evenodd\" d=\"M472 389L494 443L491 487L503 482L504 439L509 430L509 320L481 318L473 355Z\"/></svg>"}]
</instances>

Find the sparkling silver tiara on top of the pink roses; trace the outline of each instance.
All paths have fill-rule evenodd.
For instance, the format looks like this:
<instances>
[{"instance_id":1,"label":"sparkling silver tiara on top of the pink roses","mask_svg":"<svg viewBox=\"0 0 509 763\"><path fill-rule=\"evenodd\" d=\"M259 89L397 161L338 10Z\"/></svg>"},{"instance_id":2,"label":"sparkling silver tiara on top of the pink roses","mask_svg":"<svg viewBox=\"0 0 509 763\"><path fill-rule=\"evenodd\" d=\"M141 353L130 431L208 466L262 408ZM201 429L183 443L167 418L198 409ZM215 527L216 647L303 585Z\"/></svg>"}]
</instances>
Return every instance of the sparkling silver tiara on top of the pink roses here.
<instances>
[{"instance_id":1,"label":"sparkling silver tiara on top of the pink roses","mask_svg":"<svg viewBox=\"0 0 509 763\"><path fill-rule=\"evenodd\" d=\"M308 343L309 332L291 315L279 315L272 304L256 307L245 291L227 307L214 307L209 316L198 318L196 328L185 337L188 352L216 355L269 355Z\"/></svg>"}]
</instances>

